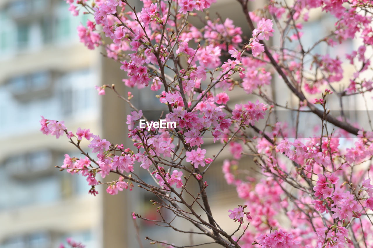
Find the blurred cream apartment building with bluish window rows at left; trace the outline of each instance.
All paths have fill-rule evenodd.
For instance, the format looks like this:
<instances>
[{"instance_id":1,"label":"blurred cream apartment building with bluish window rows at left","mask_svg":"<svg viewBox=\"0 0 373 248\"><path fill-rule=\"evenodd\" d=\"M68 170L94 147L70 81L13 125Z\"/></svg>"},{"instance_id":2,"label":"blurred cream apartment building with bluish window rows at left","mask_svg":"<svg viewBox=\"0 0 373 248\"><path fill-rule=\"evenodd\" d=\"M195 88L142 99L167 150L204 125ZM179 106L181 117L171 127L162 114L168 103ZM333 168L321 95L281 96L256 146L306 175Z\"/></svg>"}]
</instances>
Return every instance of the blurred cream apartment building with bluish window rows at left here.
<instances>
[{"instance_id":1,"label":"blurred cream apartment building with bluish window rows at left","mask_svg":"<svg viewBox=\"0 0 373 248\"><path fill-rule=\"evenodd\" d=\"M115 247L103 245L103 197L54 168L76 149L39 131L44 115L101 133L94 86L103 84L103 61L79 42L80 22L86 17L73 17L63 0L0 1L1 248L58 247L70 236Z\"/></svg>"}]
</instances>

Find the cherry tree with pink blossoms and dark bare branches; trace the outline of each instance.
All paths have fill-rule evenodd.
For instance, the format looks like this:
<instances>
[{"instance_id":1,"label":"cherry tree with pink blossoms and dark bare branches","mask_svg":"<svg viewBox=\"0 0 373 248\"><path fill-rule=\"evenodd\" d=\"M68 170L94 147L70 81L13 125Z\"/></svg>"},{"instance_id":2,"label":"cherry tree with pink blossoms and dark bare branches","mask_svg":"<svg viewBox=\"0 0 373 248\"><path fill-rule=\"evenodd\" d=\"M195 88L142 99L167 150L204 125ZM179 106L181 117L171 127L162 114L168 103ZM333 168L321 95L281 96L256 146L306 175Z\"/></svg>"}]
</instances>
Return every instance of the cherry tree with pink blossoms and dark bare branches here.
<instances>
[{"instance_id":1,"label":"cherry tree with pink blossoms and dark bare branches","mask_svg":"<svg viewBox=\"0 0 373 248\"><path fill-rule=\"evenodd\" d=\"M42 117L44 134L66 135L83 155L65 155L59 168L86 177L94 195L100 184L112 195L140 187L154 194L151 204L160 220L136 212L134 218L207 236L222 247L373 247L373 130L349 120L344 104L350 98L361 99L366 110L371 104L372 1L268 0L252 10L248 0L236 0L245 18L241 26L211 17L208 9L215 1L142 0L136 9L127 0L66 0L73 15L94 17L78 27L81 42L88 49L104 47L128 74L97 90L100 95L112 90L132 108L126 131L133 146ZM303 29L313 10L333 17L334 28L327 35L312 34L317 41L306 46ZM191 18L199 18L200 27ZM361 45L341 54L338 45L348 41ZM338 55L318 54L319 46ZM351 75L345 73L347 64ZM131 92L117 91L119 83L140 92L150 88L167 110L159 118L176 127L160 128L148 120L131 102ZM276 100L274 88L295 104ZM245 102L235 101L237 92L247 96ZM279 121L279 110L294 112L295 118ZM300 123L312 117L317 130L305 130ZM370 124L369 111L363 118ZM82 149L84 139L91 153ZM220 146L210 158L207 139ZM221 165L217 158L224 149L232 156ZM247 163L239 163L247 159L254 160L259 176L250 176ZM214 219L206 193L204 178L216 166L242 199L227 209L230 225L236 225L230 233ZM100 181L109 174L117 179ZM194 230L179 229L161 209Z\"/></svg>"}]
</instances>

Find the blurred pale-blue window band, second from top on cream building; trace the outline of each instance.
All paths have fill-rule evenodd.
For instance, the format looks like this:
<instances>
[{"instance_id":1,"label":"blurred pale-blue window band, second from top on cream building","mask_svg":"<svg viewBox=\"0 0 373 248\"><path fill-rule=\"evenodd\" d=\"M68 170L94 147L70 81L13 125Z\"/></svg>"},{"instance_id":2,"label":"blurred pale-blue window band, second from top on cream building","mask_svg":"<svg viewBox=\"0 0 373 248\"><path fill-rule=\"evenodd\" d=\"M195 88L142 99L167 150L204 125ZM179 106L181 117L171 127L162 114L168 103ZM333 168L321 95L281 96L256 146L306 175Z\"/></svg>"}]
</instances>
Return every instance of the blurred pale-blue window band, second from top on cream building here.
<instances>
[{"instance_id":1,"label":"blurred pale-blue window band, second from top on cream building","mask_svg":"<svg viewBox=\"0 0 373 248\"><path fill-rule=\"evenodd\" d=\"M57 73L39 71L11 78L0 86L0 136L40 128L40 115L96 118L99 111L97 77L90 70Z\"/></svg>"}]
</instances>

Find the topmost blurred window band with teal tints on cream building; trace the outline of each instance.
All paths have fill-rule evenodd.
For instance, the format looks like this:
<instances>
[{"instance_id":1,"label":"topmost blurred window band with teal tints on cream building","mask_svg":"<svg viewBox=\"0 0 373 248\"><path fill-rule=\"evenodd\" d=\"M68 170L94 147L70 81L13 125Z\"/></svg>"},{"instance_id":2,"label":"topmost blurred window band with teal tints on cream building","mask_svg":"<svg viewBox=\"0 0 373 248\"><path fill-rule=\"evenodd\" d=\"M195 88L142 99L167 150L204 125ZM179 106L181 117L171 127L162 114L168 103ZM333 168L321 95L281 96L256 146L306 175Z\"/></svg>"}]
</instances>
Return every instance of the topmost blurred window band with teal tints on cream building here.
<instances>
[{"instance_id":1,"label":"topmost blurred window band with teal tints on cream building","mask_svg":"<svg viewBox=\"0 0 373 248\"><path fill-rule=\"evenodd\" d=\"M51 0L10 1L0 10L0 52L12 47L16 51L38 50L52 41L78 41L76 27L87 18L88 15L73 17L62 0L56 4Z\"/></svg>"}]
</instances>

